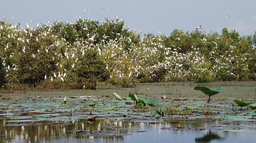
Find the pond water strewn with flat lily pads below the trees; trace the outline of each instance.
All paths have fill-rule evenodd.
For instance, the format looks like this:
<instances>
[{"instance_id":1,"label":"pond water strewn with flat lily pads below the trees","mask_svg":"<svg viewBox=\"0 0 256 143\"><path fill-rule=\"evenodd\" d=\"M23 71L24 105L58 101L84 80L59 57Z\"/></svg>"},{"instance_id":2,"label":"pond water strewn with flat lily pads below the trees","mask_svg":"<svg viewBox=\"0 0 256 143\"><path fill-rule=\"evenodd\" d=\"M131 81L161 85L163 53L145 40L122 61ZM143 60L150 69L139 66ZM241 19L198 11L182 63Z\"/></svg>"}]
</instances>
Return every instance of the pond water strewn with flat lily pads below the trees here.
<instances>
[{"instance_id":1,"label":"pond water strewn with flat lily pads below the trees","mask_svg":"<svg viewBox=\"0 0 256 143\"><path fill-rule=\"evenodd\" d=\"M180 104L175 109L181 112L187 105L204 109L208 97L194 90L199 85L212 89L222 86L226 90L211 97L208 109L213 115L195 110L186 111L188 115L153 115L170 104ZM122 97L128 93L148 95L161 105L146 107L145 112L134 108L134 104L106 96L113 92ZM255 101L256 82L153 83L136 88L101 85L97 90L0 95L0 143L250 143L255 140L256 118L249 115L250 108L243 107L240 111L231 99ZM163 95L169 98L162 99ZM67 97L65 103L64 97ZM97 107L90 107L92 103ZM96 120L88 121L91 116L96 116Z\"/></svg>"}]
</instances>

